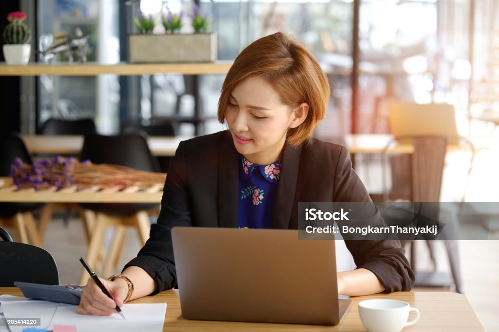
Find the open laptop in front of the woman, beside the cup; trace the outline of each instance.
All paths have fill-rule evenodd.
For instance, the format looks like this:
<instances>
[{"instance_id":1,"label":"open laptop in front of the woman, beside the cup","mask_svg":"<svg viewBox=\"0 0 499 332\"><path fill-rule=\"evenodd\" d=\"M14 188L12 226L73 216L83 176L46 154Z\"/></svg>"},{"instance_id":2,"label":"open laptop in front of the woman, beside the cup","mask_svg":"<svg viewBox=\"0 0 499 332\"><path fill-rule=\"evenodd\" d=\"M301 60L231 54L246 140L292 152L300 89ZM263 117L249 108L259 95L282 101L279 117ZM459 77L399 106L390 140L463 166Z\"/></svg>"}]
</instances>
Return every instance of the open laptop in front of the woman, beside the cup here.
<instances>
[{"instance_id":1,"label":"open laptop in front of the woman, beside the cup","mask_svg":"<svg viewBox=\"0 0 499 332\"><path fill-rule=\"evenodd\" d=\"M297 230L172 228L182 316L191 320L337 325L333 240Z\"/></svg>"}]
</instances>

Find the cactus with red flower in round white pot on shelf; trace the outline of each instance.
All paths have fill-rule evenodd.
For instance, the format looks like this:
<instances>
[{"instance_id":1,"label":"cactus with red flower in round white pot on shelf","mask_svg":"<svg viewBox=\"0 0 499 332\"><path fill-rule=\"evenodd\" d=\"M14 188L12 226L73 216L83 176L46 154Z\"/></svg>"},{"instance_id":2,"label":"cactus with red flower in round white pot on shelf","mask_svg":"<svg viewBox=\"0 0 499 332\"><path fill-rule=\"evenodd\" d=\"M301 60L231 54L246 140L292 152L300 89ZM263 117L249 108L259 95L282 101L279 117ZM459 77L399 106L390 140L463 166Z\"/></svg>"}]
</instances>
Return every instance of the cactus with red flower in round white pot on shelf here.
<instances>
[{"instance_id":1,"label":"cactus with red flower in round white pot on shelf","mask_svg":"<svg viewBox=\"0 0 499 332\"><path fill-rule=\"evenodd\" d=\"M31 54L31 30L23 23L26 14L14 11L7 15L10 22L3 29L3 57L8 65L25 65Z\"/></svg>"}]
</instances>

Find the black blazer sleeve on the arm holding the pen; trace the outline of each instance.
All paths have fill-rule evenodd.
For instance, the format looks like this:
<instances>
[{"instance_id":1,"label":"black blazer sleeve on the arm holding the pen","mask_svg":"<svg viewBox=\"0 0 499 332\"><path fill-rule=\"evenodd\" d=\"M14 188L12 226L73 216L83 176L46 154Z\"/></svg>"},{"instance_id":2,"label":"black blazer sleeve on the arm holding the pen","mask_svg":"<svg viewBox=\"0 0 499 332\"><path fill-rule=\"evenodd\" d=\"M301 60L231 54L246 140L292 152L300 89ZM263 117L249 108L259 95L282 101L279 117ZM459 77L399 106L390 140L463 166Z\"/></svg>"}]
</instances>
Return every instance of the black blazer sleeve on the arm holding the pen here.
<instances>
[{"instance_id":1,"label":"black blazer sleeve on the arm holding the pen","mask_svg":"<svg viewBox=\"0 0 499 332\"><path fill-rule=\"evenodd\" d=\"M168 168L158 221L151 224L149 239L137 257L123 268L138 266L144 269L157 285L151 295L177 285L171 229L192 225L186 188L184 142L180 142Z\"/></svg>"}]
</instances>

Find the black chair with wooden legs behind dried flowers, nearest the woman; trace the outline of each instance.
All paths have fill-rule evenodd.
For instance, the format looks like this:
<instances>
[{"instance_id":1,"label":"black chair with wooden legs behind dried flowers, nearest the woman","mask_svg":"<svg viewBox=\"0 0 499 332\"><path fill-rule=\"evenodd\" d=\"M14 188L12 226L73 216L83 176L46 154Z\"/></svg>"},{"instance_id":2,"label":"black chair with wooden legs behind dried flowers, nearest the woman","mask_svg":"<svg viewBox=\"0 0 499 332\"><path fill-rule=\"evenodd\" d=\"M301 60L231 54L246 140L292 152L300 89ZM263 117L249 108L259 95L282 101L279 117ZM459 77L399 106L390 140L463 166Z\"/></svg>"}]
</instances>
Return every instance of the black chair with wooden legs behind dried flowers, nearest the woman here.
<instances>
[{"instance_id":1,"label":"black chair with wooden legs behind dried flowers, nearest the woman","mask_svg":"<svg viewBox=\"0 0 499 332\"><path fill-rule=\"evenodd\" d=\"M80 160L87 159L94 164L121 165L149 172L159 169L156 160L151 155L146 139L139 134L118 136L87 135L81 150ZM88 263L91 266L96 266L102 239L108 227L117 227L117 231L111 245L111 253L107 256L103 275L109 274L113 264L116 265L117 263L126 235L127 228L125 226L136 228L140 241L145 244L149 238L150 229L149 215L146 211L157 208L159 203L80 204L81 207L96 213L87 253ZM81 283L83 284L86 279L88 279L88 276L83 272Z\"/></svg>"}]
</instances>

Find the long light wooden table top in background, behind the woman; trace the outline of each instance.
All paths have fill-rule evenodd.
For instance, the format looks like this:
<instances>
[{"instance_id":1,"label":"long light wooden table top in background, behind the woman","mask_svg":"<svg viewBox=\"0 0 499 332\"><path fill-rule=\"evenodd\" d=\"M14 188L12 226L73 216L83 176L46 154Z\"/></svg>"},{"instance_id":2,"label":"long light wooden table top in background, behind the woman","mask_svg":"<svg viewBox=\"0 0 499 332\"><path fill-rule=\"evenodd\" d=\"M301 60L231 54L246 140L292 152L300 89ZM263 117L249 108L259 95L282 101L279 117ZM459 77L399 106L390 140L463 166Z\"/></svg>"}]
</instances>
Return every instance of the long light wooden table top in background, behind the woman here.
<instances>
[{"instance_id":1,"label":"long light wooden table top in background, behind the woman","mask_svg":"<svg viewBox=\"0 0 499 332\"><path fill-rule=\"evenodd\" d=\"M78 155L83 146L80 135L23 135L24 143L31 153ZM182 140L192 137L150 136L147 139L149 148L156 156L173 156ZM381 153L393 139L390 134L347 134L345 145L350 153ZM471 139L476 149L490 148L499 145L498 138L475 137ZM449 150L469 150L468 146L449 145ZM410 143L397 144L389 153L411 154L414 147Z\"/></svg>"}]
</instances>

